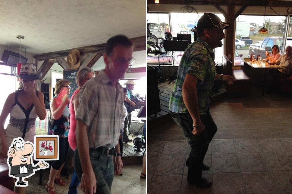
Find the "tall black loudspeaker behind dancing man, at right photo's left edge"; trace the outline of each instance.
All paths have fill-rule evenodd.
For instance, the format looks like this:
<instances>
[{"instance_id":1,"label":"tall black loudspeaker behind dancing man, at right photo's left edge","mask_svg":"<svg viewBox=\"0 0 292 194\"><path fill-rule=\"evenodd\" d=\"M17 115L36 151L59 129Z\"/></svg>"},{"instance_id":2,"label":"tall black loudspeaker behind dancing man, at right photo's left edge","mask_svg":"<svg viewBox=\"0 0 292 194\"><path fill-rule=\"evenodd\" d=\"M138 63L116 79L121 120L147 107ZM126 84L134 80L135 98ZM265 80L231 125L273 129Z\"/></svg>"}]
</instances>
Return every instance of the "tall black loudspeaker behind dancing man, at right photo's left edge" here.
<instances>
[{"instance_id":1,"label":"tall black loudspeaker behind dancing man, at right photo's left edge","mask_svg":"<svg viewBox=\"0 0 292 194\"><path fill-rule=\"evenodd\" d=\"M156 69L147 68L147 116L161 111Z\"/></svg>"}]
</instances>

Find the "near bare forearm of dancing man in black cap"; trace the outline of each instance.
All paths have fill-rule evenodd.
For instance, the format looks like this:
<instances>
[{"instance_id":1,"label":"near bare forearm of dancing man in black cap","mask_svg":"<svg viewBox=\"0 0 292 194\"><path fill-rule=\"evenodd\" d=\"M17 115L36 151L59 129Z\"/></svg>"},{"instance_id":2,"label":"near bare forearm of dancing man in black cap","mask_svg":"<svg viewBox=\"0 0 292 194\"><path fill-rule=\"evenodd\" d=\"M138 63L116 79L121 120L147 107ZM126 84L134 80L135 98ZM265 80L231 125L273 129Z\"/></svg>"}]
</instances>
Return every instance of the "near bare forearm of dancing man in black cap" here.
<instances>
[{"instance_id":1,"label":"near bare forearm of dancing man in black cap","mask_svg":"<svg viewBox=\"0 0 292 194\"><path fill-rule=\"evenodd\" d=\"M187 110L189 111L193 122L195 125L199 125L201 122L200 119L200 113L199 113L199 107L198 107L198 95L196 90L196 85L187 85L182 88L182 95L184 104L187 107Z\"/></svg>"}]
</instances>

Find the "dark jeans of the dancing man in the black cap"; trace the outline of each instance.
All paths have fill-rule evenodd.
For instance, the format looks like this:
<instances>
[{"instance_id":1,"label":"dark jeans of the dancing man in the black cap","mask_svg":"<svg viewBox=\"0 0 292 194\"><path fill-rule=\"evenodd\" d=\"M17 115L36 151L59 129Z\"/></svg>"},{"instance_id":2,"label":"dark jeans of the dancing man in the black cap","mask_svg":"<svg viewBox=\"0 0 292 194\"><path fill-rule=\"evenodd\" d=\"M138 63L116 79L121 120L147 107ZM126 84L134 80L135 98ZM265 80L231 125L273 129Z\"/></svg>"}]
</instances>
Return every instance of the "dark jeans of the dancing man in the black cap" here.
<instances>
[{"instance_id":1,"label":"dark jeans of the dancing man in the black cap","mask_svg":"<svg viewBox=\"0 0 292 194\"><path fill-rule=\"evenodd\" d=\"M217 131L217 126L208 110L206 111L206 115L200 116L201 122L205 126L205 130L200 134L193 135L193 119L188 112L170 112L170 114L177 125L183 129L184 136L187 137L191 147L190 156L186 161L186 165L189 167L187 178L199 179L202 176L202 166L205 154L208 150L209 143Z\"/></svg>"}]
</instances>

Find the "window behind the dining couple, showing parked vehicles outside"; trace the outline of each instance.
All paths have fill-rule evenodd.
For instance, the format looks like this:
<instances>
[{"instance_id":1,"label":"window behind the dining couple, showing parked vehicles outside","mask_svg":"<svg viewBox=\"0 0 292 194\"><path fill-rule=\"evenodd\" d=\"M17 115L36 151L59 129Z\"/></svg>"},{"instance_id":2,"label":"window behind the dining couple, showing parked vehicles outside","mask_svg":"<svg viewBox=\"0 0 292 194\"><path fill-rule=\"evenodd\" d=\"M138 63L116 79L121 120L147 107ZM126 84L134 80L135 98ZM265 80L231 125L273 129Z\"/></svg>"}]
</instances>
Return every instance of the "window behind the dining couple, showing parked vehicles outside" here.
<instances>
[{"instance_id":1,"label":"window behind the dining couple, showing parked vehicles outside","mask_svg":"<svg viewBox=\"0 0 292 194\"><path fill-rule=\"evenodd\" d=\"M263 24L268 29L268 34L258 33L259 29L263 27ZM235 49L239 54L243 54L241 60L243 58L250 58L251 53L255 57L260 55L260 57L266 58L265 52L268 51L271 54L273 45L278 45L281 52L284 26L285 16L238 16L236 19L235 38L243 41L244 46L237 47L238 42L235 41ZM234 63L234 65L236 64Z\"/></svg>"}]
</instances>

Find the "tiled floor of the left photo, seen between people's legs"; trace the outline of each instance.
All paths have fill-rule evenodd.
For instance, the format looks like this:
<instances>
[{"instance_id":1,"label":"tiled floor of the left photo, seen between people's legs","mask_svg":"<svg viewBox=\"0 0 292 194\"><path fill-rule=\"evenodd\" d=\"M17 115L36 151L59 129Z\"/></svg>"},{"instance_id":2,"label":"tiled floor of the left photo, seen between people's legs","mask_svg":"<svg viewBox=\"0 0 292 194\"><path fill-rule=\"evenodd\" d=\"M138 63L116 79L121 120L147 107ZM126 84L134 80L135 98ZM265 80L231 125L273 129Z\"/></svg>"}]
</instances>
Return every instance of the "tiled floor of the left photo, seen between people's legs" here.
<instances>
[{"instance_id":1,"label":"tiled floor of the left photo, seen between people's legs","mask_svg":"<svg viewBox=\"0 0 292 194\"><path fill-rule=\"evenodd\" d=\"M127 193L146 193L146 180L140 179L140 173L142 165L124 165L123 176L115 176L113 184L111 186L112 194L127 194ZM37 173L30 177L28 180L28 186L26 193L42 194L47 193L45 186L39 185L39 174ZM46 184L49 177L49 171L44 171L43 183ZM70 179L66 179L62 176L62 180L67 183L66 186L59 186L55 184L56 193L66 194L69 190L72 174ZM78 193L83 193L80 187L77 188Z\"/></svg>"}]
</instances>

